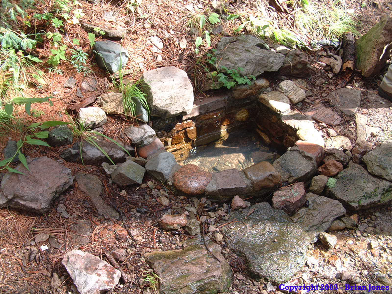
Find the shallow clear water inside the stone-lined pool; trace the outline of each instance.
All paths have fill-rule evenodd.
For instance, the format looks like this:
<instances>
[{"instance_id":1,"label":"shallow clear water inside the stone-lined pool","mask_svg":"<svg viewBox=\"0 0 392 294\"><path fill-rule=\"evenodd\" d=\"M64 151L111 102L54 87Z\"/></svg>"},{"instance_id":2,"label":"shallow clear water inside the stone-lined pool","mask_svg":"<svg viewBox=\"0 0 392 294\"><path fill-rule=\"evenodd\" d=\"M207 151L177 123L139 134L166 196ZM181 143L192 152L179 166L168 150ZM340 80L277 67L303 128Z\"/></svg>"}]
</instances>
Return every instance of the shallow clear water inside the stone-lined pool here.
<instances>
[{"instance_id":1,"label":"shallow clear water inside the stone-lined pool","mask_svg":"<svg viewBox=\"0 0 392 294\"><path fill-rule=\"evenodd\" d=\"M233 168L243 170L260 161L272 163L278 157L277 150L263 145L258 135L238 130L227 139L193 148L191 155L180 164L196 164L205 171L219 172Z\"/></svg>"}]
</instances>

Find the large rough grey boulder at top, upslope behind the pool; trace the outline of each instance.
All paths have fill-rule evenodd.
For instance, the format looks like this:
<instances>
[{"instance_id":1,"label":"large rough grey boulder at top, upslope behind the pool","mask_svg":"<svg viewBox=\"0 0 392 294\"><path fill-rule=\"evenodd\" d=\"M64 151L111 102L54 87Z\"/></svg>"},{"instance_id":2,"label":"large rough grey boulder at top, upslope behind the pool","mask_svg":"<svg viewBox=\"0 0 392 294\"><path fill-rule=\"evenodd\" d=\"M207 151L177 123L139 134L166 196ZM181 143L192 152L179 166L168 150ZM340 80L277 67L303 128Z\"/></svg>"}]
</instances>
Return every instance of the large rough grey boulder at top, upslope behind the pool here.
<instances>
[{"instance_id":1,"label":"large rough grey boulder at top, upslope behind the pool","mask_svg":"<svg viewBox=\"0 0 392 294\"><path fill-rule=\"evenodd\" d=\"M266 50L263 42L254 36L223 37L215 54L218 70L242 68L240 73L244 76L276 72L285 59L280 53Z\"/></svg>"}]
</instances>

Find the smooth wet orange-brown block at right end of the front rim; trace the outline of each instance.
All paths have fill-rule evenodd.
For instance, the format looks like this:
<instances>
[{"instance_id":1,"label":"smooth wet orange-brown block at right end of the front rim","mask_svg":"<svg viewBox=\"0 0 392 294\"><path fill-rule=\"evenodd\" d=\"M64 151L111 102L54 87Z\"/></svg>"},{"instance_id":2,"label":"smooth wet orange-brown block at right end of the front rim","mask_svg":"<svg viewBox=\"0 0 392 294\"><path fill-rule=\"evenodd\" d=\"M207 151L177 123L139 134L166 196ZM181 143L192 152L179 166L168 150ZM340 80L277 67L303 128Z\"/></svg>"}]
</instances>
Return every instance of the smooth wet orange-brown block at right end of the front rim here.
<instances>
[{"instance_id":1,"label":"smooth wet orange-brown block at right end of the front rim","mask_svg":"<svg viewBox=\"0 0 392 294\"><path fill-rule=\"evenodd\" d=\"M268 161L256 163L244 169L243 172L252 182L255 191L272 188L280 182L279 172Z\"/></svg>"}]
</instances>

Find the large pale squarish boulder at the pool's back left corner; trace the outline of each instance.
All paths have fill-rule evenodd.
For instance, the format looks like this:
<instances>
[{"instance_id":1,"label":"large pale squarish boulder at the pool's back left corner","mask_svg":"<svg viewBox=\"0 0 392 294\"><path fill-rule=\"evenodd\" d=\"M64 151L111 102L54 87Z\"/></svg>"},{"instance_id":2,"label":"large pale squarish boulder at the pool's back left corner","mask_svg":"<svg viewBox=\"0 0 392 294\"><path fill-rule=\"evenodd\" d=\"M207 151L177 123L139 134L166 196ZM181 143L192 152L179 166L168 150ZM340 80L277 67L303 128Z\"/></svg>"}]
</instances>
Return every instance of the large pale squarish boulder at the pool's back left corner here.
<instances>
[{"instance_id":1,"label":"large pale squarish boulder at the pool's back left corner","mask_svg":"<svg viewBox=\"0 0 392 294\"><path fill-rule=\"evenodd\" d=\"M143 73L148 105L152 116L169 118L189 114L193 107L193 87L185 71L174 66Z\"/></svg>"}]
</instances>

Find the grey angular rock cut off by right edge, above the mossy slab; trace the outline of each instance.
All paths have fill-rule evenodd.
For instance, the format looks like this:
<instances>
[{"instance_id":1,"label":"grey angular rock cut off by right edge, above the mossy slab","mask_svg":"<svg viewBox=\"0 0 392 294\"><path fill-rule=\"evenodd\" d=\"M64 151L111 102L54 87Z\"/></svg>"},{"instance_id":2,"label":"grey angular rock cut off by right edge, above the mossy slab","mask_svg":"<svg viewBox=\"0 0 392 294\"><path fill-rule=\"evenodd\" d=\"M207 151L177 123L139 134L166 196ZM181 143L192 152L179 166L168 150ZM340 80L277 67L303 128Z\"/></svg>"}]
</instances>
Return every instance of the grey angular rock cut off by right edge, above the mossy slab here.
<instances>
[{"instance_id":1,"label":"grey angular rock cut off by right edge, above the mossy slab","mask_svg":"<svg viewBox=\"0 0 392 294\"><path fill-rule=\"evenodd\" d=\"M392 142L382 143L363 157L371 174L392 181Z\"/></svg>"}]
</instances>

